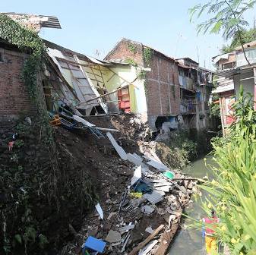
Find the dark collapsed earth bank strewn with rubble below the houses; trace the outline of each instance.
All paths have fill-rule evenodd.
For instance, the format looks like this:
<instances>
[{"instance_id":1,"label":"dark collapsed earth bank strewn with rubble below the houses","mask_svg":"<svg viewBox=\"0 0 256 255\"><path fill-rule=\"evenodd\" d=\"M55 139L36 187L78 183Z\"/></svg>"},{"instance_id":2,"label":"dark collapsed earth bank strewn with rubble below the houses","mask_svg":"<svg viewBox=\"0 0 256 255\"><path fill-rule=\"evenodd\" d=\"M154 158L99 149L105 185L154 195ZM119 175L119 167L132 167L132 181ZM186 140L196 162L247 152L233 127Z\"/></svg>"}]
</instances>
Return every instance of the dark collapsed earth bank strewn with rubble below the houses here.
<instances>
[{"instance_id":1,"label":"dark collapsed earth bank strewn with rubble below the houses","mask_svg":"<svg viewBox=\"0 0 256 255\"><path fill-rule=\"evenodd\" d=\"M92 116L87 121L119 129L112 135L126 153L160 157L153 152L147 125L136 116ZM148 159L143 158L141 181L146 190L137 192L128 187L139 166L121 159L106 136L98 139L86 129L53 129L54 150L44 145L33 120L31 125L21 121L0 129L2 249L13 254L77 254L92 236L106 241L105 254L122 254L163 225L150 253L164 254L194 192L194 180L175 172L180 179L171 181L145 165ZM17 137L9 150L13 134ZM151 203L147 196L157 190L157 182L160 188L164 182L163 189L169 191L159 188L163 199Z\"/></svg>"}]
</instances>

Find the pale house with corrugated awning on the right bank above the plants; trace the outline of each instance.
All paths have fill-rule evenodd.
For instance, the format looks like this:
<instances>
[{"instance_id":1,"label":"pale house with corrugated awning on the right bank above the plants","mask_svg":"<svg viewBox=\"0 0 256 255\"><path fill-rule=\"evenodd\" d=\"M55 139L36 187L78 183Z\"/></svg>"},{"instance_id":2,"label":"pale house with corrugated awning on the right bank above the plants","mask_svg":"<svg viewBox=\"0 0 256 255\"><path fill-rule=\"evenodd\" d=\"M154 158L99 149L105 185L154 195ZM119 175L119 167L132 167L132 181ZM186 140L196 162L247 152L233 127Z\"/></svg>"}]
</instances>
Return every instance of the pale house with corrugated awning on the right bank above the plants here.
<instances>
[{"instance_id":1,"label":"pale house with corrugated awning on the right bank above the plants","mask_svg":"<svg viewBox=\"0 0 256 255\"><path fill-rule=\"evenodd\" d=\"M256 41L248 42L244 45L245 59L242 46L235 48L233 52L213 57L216 65L217 87L213 93L219 96L220 116L223 135L226 128L235 120L233 117L232 103L239 96L240 86L243 87L244 94L250 93L255 97L255 74L256 74ZM255 100L255 99L254 99Z\"/></svg>"}]
</instances>

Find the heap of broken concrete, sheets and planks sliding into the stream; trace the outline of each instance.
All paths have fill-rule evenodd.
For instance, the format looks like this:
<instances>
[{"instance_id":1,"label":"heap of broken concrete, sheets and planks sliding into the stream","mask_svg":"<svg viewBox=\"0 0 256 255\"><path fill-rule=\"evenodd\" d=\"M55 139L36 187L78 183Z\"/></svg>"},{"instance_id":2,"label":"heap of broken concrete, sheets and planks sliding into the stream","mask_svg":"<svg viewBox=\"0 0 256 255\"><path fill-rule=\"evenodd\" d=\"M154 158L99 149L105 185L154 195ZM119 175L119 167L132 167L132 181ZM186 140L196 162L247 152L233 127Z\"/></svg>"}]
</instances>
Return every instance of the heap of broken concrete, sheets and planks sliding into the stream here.
<instances>
[{"instance_id":1,"label":"heap of broken concrete, sheets and planks sliding into the stream","mask_svg":"<svg viewBox=\"0 0 256 255\"><path fill-rule=\"evenodd\" d=\"M119 133L112 134L115 140L139 162L134 158L136 164L121 159L108 140L98 140L97 150L103 158L96 160L100 183L97 202L103 209L103 219L96 209L92 210L84 218L81 230L73 231L74 240L68 242L59 254L81 253L88 237L106 241L104 254L137 254L134 247L147 240L159 227L159 233L150 238L149 244L142 246L147 250L141 254L165 254L179 228L182 209L191 202L191 194L196 191L194 179L175 171L175 179L171 180L147 164L150 157L157 158L157 155L152 146L148 146L151 143L147 126L136 116L90 117L87 121L103 128L119 129ZM139 181L135 172L139 176L141 172Z\"/></svg>"}]
</instances>

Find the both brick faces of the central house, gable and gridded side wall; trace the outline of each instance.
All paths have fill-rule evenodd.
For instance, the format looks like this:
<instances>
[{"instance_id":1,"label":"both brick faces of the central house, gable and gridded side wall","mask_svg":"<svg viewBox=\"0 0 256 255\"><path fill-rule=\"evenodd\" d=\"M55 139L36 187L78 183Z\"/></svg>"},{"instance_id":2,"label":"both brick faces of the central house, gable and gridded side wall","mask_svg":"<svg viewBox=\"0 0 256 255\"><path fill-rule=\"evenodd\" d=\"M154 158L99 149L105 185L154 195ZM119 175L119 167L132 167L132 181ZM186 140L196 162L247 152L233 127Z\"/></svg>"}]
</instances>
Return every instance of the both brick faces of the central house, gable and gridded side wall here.
<instances>
[{"instance_id":1,"label":"both brick faces of the central house, gable and gridded side wall","mask_svg":"<svg viewBox=\"0 0 256 255\"><path fill-rule=\"evenodd\" d=\"M131 52L129 44L136 47L137 52ZM144 46L139 42L122 39L106 56L106 60L132 58L138 65L144 65ZM151 71L147 72L147 115L169 116L179 115L180 86L178 65L172 58L159 52L154 52L150 62Z\"/></svg>"}]
</instances>

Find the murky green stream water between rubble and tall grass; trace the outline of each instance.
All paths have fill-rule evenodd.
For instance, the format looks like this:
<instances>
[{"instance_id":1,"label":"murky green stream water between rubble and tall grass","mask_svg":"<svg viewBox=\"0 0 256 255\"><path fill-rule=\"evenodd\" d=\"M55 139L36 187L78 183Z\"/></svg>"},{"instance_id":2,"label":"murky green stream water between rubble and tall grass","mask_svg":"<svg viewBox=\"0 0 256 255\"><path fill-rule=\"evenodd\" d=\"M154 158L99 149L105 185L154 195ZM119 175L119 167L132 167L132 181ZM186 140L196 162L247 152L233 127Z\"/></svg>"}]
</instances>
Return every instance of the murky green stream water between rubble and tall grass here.
<instances>
[{"instance_id":1,"label":"murky green stream water between rubble and tall grass","mask_svg":"<svg viewBox=\"0 0 256 255\"><path fill-rule=\"evenodd\" d=\"M207 157L207 163L211 162L211 158ZM202 178L208 175L211 178L211 172L205 166L204 159L198 159L183 172L191 174L193 177ZM203 194L204 197L204 194ZM188 206L186 213L195 219L204 217L201 207L197 203L192 203ZM177 233L175 240L172 242L169 254L172 255L204 255L204 238L202 238L201 231L191 229L181 229Z\"/></svg>"}]
</instances>

